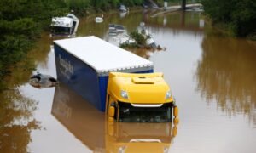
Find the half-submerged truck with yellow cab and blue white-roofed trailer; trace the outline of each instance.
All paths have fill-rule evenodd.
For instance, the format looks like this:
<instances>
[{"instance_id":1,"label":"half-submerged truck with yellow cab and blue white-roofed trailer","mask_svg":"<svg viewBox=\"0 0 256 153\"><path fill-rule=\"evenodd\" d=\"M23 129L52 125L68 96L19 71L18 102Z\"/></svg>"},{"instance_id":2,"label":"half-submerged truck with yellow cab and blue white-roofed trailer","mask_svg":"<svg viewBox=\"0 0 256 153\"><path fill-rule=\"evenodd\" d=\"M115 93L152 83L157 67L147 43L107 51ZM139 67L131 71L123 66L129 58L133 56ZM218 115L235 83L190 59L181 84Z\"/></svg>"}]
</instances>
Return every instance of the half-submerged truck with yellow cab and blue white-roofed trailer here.
<instances>
[{"instance_id":1,"label":"half-submerged truck with yellow cab and blue white-roofed trailer","mask_svg":"<svg viewBox=\"0 0 256 153\"><path fill-rule=\"evenodd\" d=\"M178 108L153 63L104 40L76 37L54 41L57 78L106 111L110 121L178 122Z\"/></svg>"}]
</instances>

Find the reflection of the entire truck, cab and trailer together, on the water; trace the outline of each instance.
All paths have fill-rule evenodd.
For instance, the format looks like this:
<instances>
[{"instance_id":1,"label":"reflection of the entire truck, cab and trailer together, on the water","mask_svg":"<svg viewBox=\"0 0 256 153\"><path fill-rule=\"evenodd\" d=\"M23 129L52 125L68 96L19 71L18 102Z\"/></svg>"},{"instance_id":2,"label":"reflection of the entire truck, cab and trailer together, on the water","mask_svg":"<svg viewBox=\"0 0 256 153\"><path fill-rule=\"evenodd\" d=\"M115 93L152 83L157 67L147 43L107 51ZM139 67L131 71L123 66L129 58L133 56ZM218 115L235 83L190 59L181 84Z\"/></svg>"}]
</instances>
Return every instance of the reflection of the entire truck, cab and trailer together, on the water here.
<instances>
[{"instance_id":1,"label":"reflection of the entire truck, cab and trailer together, on the water","mask_svg":"<svg viewBox=\"0 0 256 153\"><path fill-rule=\"evenodd\" d=\"M177 135L172 123L108 122L104 113L62 83L55 89L51 113L96 152L163 152Z\"/></svg>"}]
</instances>

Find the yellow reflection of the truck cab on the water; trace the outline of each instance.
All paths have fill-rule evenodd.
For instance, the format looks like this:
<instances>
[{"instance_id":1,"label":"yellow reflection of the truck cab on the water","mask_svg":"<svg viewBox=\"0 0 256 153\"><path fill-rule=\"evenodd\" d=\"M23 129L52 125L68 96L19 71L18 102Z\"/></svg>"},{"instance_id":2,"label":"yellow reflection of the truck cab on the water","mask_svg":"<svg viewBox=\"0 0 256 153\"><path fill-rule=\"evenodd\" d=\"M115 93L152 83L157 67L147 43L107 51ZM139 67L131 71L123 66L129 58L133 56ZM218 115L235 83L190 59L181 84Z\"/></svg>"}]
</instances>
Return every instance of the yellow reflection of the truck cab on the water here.
<instances>
[{"instance_id":1,"label":"yellow reflection of the truck cab on the water","mask_svg":"<svg viewBox=\"0 0 256 153\"><path fill-rule=\"evenodd\" d=\"M113 122L106 129L107 152L168 152L177 135L172 123Z\"/></svg>"}]
</instances>

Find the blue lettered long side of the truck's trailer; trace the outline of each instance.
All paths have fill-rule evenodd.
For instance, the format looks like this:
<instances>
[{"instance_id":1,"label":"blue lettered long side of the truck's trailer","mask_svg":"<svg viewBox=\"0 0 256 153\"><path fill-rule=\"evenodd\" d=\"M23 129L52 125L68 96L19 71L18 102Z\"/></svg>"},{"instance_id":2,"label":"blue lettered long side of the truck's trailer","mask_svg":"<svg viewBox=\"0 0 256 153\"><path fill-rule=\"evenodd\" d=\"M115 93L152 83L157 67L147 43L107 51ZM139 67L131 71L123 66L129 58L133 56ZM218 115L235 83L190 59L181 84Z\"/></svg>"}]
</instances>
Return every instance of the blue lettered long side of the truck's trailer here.
<instances>
[{"instance_id":1,"label":"blue lettered long side of the truck's trailer","mask_svg":"<svg viewBox=\"0 0 256 153\"><path fill-rule=\"evenodd\" d=\"M105 106L101 105L96 71L58 45L55 45L54 48L58 80L66 83L68 87L95 105L97 109L104 111Z\"/></svg>"}]
</instances>

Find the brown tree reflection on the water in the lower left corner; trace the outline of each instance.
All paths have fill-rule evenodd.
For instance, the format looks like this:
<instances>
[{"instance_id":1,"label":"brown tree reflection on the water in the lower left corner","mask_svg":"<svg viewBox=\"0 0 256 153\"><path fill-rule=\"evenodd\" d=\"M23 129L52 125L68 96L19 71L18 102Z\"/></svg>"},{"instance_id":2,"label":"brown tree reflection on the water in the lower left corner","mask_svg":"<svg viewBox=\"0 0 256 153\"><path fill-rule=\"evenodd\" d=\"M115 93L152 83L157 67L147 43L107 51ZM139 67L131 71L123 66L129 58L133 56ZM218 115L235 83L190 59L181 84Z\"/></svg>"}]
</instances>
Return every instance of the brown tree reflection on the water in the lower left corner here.
<instances>
[{"instance_id":1,"label":"brown tree reflection on the water in the lower left corner","mask_svg":"<svg viewBox=\"0 0 256 153\"><path fill-rule=\"evenodd\" d=\"M28 152L32 130L40 129L33 118L37 103L18 88L3 91L0 99L0 152Z\"/></svg>"}]
</instances>

